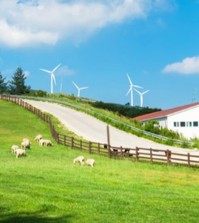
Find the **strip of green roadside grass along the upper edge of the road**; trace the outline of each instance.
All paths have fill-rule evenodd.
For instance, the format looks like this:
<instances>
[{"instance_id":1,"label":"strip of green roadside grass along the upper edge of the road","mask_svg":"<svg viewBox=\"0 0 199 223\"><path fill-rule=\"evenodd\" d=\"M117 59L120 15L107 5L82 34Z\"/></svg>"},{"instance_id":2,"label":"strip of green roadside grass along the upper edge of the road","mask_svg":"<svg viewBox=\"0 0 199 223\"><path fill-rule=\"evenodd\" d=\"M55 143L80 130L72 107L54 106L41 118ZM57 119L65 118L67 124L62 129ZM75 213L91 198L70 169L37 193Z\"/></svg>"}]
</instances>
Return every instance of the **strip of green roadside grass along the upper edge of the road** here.
<instances>
[{"instance_id":1,"label":"strip of green roadside grass along the upper edge of the road","mask_svg":"<svg viewBox=\"0 0 199 223\"><path fill-rule=\"evenodd\" d=\"M34 97L34 100L37 97ZM75 96L65 95L65 94L53 94L48 95L48 97L42 98L40 97L39 100L46 100L49 99L52 102L62 103L64 106L73 105L73 109L80 110L81 112L85 112L94 116L95 118L106 122L118 129L123 131L132 133L137 135L138 137L144 137L146 139L152 140L154 142L166 144L166 145L173 145L176 147L183 147L183 148L198 148L198 140L187 140L183 136L181 136L180 140L168 138L167 140L162 138L161 135L158 137L154 137L150 134L144 133L144 127L139 121L132 120L125 116L119 115L117 112L112 112L102 108L96 108L88 103L87 100L79 99Z\"/></svg>"}]
</instances>

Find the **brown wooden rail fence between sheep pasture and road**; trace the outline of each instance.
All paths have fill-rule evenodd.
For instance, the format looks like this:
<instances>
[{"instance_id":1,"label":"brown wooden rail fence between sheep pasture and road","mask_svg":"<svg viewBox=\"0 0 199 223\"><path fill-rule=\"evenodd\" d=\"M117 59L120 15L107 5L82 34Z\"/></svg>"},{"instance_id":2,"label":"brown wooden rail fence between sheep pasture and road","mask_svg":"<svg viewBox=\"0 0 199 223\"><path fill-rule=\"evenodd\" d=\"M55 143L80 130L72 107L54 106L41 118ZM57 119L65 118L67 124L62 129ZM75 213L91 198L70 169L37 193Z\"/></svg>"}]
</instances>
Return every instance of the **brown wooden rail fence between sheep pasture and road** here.
<instances>
[{"instance_id":1,"label":"brown wooden rail fence between sheep pasture and road","mask_svg":"<svg viewBox=\"0 0 199 223\"><path fill-rule=\"evenodd\" d=\"M50 127L51 135L58 144L65 145L71 149L78 149L80 151L86 151L91 154L99 154L102 156L108 156L110 158L130 159L132 161L147 161L151 163L164 163L187 165L189 167L199 167L199 152L198 155L191 153L176 153L170 150L158 150L152 148L123 148L113 147L111 145L88 142L75 137L59 134L51 121L48 114L42 112L40 109L33 107L22 99L14 96L0 95L0 99L11 101L16 103L28 111L31 111L43 121L47 122Z\"/></svg>"}]
</instances>

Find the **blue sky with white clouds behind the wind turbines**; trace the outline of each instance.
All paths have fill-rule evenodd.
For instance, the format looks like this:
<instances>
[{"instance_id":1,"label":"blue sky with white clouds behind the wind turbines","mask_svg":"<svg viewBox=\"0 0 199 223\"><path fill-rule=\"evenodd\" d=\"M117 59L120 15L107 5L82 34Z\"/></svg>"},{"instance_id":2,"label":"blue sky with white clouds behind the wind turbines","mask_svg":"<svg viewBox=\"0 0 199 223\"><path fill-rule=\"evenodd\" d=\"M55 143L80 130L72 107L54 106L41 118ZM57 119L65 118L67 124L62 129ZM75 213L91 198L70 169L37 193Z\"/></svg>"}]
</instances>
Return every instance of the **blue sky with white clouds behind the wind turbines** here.
<instances>
[{"instance_id":1,"label":"blue sky with white clouds behind the wind turbines","mask_svg":"<svg viewBox=\"0 0 199 223\"><path fill-rule=\"evenodd\" d=\"M32 89L126 104L127 73L150 89L144 106L199 100L198 0L0 0L0 71L17 67ZM140 97L134 91L134 105Z\"/></svg>"}]
</instances>

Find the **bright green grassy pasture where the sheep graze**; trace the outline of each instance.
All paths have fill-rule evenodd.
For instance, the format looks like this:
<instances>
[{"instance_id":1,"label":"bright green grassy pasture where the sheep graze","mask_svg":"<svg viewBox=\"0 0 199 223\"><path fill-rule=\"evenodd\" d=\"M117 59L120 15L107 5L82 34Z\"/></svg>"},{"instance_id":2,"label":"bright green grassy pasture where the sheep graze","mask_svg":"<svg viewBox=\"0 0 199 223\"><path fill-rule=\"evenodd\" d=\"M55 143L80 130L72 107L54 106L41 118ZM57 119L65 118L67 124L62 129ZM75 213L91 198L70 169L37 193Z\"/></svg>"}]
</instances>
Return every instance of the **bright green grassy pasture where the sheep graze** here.
<instances>
[{"instance_id":1,"label":"bright green grassy pasture where the sheep graze","mask_svg":"<svg viewBox=\"0 0 199 223\"><path fill-rule=\"evenodd\" d=\"M0 101L0 222L4 223L190 223L199 219L199 169L136 163L33 141L46 123ZM12 144L30 138L27 157ZM73 164L94 158L94 168Z\"/></svg>"}]
</instances>

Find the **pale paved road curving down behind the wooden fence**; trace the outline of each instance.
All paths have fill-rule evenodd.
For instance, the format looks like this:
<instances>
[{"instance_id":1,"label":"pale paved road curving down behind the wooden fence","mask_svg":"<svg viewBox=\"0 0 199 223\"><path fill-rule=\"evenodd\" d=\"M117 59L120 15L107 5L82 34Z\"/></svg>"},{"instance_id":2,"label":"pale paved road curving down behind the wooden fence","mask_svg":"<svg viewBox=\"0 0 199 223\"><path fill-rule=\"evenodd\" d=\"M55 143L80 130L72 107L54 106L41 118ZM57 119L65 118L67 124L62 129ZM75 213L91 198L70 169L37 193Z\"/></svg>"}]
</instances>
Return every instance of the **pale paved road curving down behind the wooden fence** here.
<instances>
[{"instance_id":1,"label":"pale paved road curving down behind the wooden fence","mask_svg":"<svg viewBox=\"0 0 199 223\"><path fill-rule=\"evenodd\" d=\"M42 111L48 112L55 116L59 121L66 126L67 129L76 133L77 135L93 141L100 143L107 143L107 124L82 112L78 112L68 107L62 105L25 100L29 104L39 108ZM126 133L112 126L110 129L110 144L112 146L122 146L126 148L153 148L159 150L170 149L173 152L187 153L190 152L195 155L199 155L198 150L181 149L172 146L158 144L156 142L137 137L133 134Z\"/></svg>"}]
</instances>

